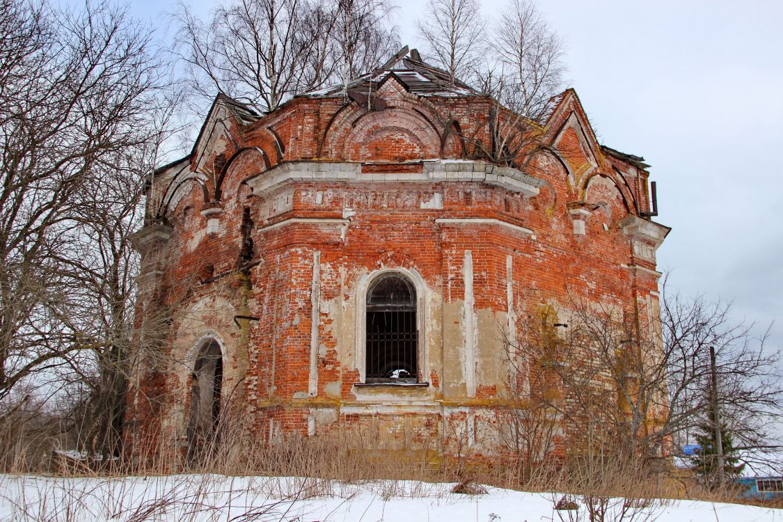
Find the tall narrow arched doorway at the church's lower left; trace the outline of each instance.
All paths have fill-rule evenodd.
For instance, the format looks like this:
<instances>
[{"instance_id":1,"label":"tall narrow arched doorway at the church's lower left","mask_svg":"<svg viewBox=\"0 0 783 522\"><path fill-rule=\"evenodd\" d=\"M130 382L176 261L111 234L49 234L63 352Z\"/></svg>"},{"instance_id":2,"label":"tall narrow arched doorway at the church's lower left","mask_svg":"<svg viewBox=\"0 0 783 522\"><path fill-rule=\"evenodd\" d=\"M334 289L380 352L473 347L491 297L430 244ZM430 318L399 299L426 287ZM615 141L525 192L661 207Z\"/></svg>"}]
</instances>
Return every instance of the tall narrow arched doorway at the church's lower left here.
<instances>
[{"instance_id":1,"label":"tall narrow arched doorway at the church's lower left","mask_svg":"<svg viewBox=\"0 0 783 522\"><path fill-rule=\"evenodd\" d=\"M196 459L218 442L223 357L218 341L211 340L198 351L190 385L188 460Z\"/></svg>"}]
</instances>

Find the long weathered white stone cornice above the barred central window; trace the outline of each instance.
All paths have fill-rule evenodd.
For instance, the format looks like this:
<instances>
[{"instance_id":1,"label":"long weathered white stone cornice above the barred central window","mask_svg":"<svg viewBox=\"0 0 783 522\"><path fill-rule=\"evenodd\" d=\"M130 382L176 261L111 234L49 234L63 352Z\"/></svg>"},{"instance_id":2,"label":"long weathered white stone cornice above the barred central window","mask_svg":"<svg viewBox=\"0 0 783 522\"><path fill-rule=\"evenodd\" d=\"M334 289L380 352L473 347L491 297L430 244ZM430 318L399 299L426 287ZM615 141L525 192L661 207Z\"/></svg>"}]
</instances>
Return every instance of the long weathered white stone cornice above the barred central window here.
<instances>
[{"instance_id":1,"label":"long weathered white stone cornice above the barred central window","mask_svg":"<svg viewBox=\"0 0 783 522\"><path fill-rule=\"evenodd\" d=\"M352 162L291 161L245 181L259 195L290 182L481 182L525 196L536 196L544 185L542 180L511 167L465 160L425 160L421 172L388 173L363 173L362 164Z\"/></svg>"}]
</instances>

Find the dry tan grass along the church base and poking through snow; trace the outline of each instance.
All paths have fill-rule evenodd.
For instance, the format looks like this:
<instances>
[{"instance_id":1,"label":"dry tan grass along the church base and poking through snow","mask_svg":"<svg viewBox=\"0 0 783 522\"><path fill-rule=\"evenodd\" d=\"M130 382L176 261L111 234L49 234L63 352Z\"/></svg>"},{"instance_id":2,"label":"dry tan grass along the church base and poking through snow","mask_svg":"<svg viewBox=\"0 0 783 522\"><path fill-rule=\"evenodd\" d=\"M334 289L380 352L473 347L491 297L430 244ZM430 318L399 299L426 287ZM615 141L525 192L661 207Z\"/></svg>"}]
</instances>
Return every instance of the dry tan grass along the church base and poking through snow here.
<instances>
[{"instance_id":1,"label":"dry tan grass along the church base and poking through snow","mask_svg":"<svg viewBox=\"0 0 783 522\"><path fill-rule=\"evenodd\" d=\"M472 484L543 492L553 507L576 506L557 510L564 522L644 522L654 518L667 499L738 500L735 491L704 491L694 481L673 477L670 470L653 472L637 459L570 458L539 466L521 482L516 459L488 463L470 454L442 458L427 445L402 449L395 441L373 440L360 429L335 428L316 437L281 437L269 443L248 437L241 426L224 426L219 441L204 445L199 458L189 463L157 450L143 455L139 459L143 465L135 467L119 460L52 460L52 450L68 440L56 425L41 427L29 417L12 424L0 424L5 435L0 436L2 471L51 476L45 481L3 479L41 481L34 498L7 499L16 509L13 520L84 520L85 509L96 518L115 520L156 520L166 513L176 513L177 520L203 520L204 513L223 517L226 509L241 510L250 505L262 508L236 520L281 520L280 513L298 499L350 499L360 491L369 491L379 499L448 495L451 486L444 488L442 483L456 483L458 490L478 494L481 488ZM367 441L381 450L359 449L366 447ZM129 479L128 473L150 477L146 484L150 487L139 488L141 479ZM102 478L96 491L78 485L79 478L96 477ZM236 484L226 485L234 480ZM258 502L262 497L276 500ZM96 510L100 513L93 513Z\"/></svg>"}]
</instances>

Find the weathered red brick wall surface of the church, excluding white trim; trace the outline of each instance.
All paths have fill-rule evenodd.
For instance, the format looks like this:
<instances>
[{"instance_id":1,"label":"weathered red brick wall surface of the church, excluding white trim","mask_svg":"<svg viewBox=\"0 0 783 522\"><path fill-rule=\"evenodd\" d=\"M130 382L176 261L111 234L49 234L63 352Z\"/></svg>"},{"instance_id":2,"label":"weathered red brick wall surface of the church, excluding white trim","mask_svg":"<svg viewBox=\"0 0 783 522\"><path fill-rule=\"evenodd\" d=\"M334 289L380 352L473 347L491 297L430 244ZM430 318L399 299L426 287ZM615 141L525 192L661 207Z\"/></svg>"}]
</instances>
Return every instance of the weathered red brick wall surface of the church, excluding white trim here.
<instances>
[{"instance_id":1,"label":"weathered red brick wall surface of the church, excluding white trim","mask_svg":"<svg viewBox=\"0 0 783 522\"><path fill-rule=\"evenodd\" d=\"M342 313L355 301L353 292L359 279L378 268L417 272L438 297L439 306L446 307L464 299L464 252L471 250L474 308L500 318L508 307L506 267L507 256L511 256L519 328L536 316L542 304L567 308L574 297L620 304L626 310L633 310L637 299L657 300L654 274L642 272L648 275L635 279L628 268L640 265L654 270L655 264L633 257L631 239L620 225L622 219L636 214L637 208L648 209L647 174L623 178L630 165L600 153L592 159L597 165L591 167L590 158L579 156L583 146L572 128L559 135L561 148L571 151L562 162L541 156L531 165L529 174L546 184L539 196L530 198L480 182L294 182L267 194L254 194L244 183L254 175L263 176L268 170L266 162L274 167L281 159L360 160L365 163L364 174L421 172L416 160L471 157L471 143L463 143L455 128L464 136L483 138L484 143L489 139L485 99L422 101L394 88L385 95L391 108L377 113L367 113L355 103L344 106L341 99L301 98L247 128L231 128L233 139L224 139L231 142L227 145L227 167L205 182L214 198L217 180L222 180L220 200L205 201L200 190L193 189L166 211L172 232L162 254L164 274L157 284L165 303L175 308L168 342L175 344L179 335L176 311L213 294L233 303L244 315L258 318L249 323L245 337L240 329L223 334L234 339L233 350L247 353L241 383L244 403L240 406L258 437L269 434L269 419L274 419L278 430L304 435L311 408L357 404L353 384L359 380L359 371L345 365L346 353L355 346L340 339L340 332L352 328L353 319ZM568 103L586 124L578 102L571 99ZM561 121L553 125L565 121L565 109L556 112ZM591 131L585 134L591 139ZM203 153L208 155L209 151ZM595 178L589 180L588 176ZM442 208L423 209L422 203L433 200L436 193L442 195ZM285 197L280 200L280 196ZM283 207L269 211L278 204L275 201L283 201ZM585 201L594 210L586 219L586 233L577 235L568 203ZM210 206L221 211L202 215ZM245 207L250 208L254 222L254 252L249 264L240 258ZM338 225L312 222L265 229L289 218L343 218L345 209L355 213L345 231ZM206 233L207 220L215 216L219 232ZM532 236L494 222L437 224L436 218L496 219L530 229ZM321 345L318 392L309 397L316 250L320 254L321 302L336 304L317 312ZM445 327L435 325L433 335ZM479 344L485 341L480 339ZM492 401L500 393L499 383L476 383L473 398L446 397L446 364L450 362L439 361L428 375L420 376L430 382L431 400L474 408L484 412L482 416L491 414ZM162 412L166 412L166 401L179 401L182 411L187 412L189 397L166 396L167 390L171 395L183 394L175 382L173 375L157 375L144 377L140 387L162 397ZM327 393L329 383L338 383L336 394ZM163 422L148 406L134 405L129 415L137 425L152 431L156 431L156 423ZM445 436L438 423L448 415L432 408L418 415L421 428L416 428L420 429L417 437ZM342 422L350 425L355 416L344 415Z\"/></svg>"}]
</instances>

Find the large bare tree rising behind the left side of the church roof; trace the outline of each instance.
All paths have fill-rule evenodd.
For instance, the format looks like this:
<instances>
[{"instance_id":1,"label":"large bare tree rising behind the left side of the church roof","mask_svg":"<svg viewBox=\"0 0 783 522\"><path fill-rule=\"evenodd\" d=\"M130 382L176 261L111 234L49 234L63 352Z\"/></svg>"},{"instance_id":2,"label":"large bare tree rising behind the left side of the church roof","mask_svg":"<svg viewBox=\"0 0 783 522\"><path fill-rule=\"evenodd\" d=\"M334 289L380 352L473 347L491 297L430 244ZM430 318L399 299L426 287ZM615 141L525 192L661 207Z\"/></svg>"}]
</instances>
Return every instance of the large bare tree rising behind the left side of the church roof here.
<instances>
[{"instance_id":1,"label":"large bare tree rising behind the left side of the church roof","mask_svg":"<svg viewBox=\"0 0 783 522\"><path fill-rule=\"evenodd\" d=\"M204 23L180 3L176 49L190 66L190 86L206 99L222 92L259 112L319 86L328 56L318 38L329 33L330 20L315 7L307 0L238 0L218 6ZM307 74L308 65L315 74Z\"/></svg>"}]
</instances>

